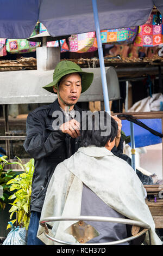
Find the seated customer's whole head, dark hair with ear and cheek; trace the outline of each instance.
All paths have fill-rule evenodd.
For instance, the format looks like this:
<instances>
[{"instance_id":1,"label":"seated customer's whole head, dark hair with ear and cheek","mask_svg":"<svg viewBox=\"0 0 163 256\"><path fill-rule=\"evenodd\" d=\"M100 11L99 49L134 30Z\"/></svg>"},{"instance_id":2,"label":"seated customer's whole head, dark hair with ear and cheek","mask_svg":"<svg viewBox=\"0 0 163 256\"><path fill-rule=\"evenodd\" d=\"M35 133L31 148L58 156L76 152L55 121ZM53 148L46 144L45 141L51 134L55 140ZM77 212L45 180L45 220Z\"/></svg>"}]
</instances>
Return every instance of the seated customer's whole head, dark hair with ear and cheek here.
<instances>
[{"instance_id":1,"label":"seated customer's whole head, dark hair with ear and cheek","mask_svg":"<svg viewBox=\"0 0 163 256\"><path fill-rule=\"evenodd\" d=\"M102 113L103 112L103 113ZM115 139L117 136L118 125L117 122L105 111L98 111L98 115L92 114L91 128L89 128L89 120L86 120L86 129L80 130L80 140L82 147L97 146L106 147L112 150L115 146ZM102 115L102 118L101 118ZM109 121L109 122L108 122ZM106 124L110 127L109 133L104 133Z\"/></svg>"}]
</instances>

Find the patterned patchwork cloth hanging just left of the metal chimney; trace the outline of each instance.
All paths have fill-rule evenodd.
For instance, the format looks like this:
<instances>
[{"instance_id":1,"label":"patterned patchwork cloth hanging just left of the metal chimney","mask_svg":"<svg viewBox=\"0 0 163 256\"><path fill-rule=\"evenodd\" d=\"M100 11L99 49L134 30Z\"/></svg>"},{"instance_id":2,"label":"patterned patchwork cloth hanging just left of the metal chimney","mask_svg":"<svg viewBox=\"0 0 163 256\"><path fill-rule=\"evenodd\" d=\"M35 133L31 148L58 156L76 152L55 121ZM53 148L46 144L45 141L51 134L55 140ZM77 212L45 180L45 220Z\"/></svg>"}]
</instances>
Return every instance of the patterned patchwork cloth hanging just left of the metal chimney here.
<instances>
[{"instance_id":1,"label":"patterned patchwork cloth hanging just left of the metal chimney","mask_svg":"<svg viewBox=\"0 0 163 256\"><path fill-rule=\"evenodd\" d=\"M39 25L37 24L31 36L39 33ZM6 49L10 53L27 53L36 50L40 43L28 41L26 39L7 39Z\"/></svg>"}]
</instances>

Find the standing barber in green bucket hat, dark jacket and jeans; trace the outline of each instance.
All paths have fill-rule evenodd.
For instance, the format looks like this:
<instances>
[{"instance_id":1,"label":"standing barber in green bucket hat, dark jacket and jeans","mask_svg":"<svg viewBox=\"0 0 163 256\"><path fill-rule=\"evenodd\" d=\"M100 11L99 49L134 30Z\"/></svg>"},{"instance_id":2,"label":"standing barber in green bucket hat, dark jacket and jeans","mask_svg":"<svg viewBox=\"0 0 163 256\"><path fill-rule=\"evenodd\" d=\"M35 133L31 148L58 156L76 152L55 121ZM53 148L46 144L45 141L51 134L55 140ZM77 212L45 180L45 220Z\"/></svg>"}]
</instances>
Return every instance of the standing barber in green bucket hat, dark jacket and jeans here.
<instances>
[{"instance_id":1,"label":"standing barber in green bucket hat, dark jacket and jeans","mask_svg":"<svg viewBox=\"0 0 163 256\"><path fill-rule=\"evenodd\" d=\"M41 106L27 117L27 137L24 148L35 159L30 202L28 245L41 245L36 238L40 214L47 186L56 166L77 152L80 123L74 119L75 112L82 114L76 103L80 94L90 87L93 73L86 73L72 61L61 61L55 67L53 81L44 86L47 91L58 94L52 104ZM54 129L55 112L60 112L64 122ZM64 186L64 184L61 184Z\"/></svg>"}]
</instances>

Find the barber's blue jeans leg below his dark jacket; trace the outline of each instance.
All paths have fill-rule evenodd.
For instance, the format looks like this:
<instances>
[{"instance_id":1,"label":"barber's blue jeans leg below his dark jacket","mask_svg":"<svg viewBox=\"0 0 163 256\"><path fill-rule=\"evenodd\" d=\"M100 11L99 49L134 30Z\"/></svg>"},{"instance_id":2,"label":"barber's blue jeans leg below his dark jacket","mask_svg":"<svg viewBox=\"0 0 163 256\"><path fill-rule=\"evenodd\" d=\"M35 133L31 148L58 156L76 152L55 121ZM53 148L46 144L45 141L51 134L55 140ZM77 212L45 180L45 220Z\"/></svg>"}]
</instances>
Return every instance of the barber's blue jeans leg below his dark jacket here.
<instances>
[{"instance_id":1,"label":"barber's blue jeans leg below his dark jacket","mask_svg":"<svg viewBox=\"0 0 163 256\"><path fill-rule=\"evenodd\" d=\"M27 245L45 245L45 243L36 237L39 228L40 215L40 212L32 211L30 213Z\"/></svg>"}]
</instances>

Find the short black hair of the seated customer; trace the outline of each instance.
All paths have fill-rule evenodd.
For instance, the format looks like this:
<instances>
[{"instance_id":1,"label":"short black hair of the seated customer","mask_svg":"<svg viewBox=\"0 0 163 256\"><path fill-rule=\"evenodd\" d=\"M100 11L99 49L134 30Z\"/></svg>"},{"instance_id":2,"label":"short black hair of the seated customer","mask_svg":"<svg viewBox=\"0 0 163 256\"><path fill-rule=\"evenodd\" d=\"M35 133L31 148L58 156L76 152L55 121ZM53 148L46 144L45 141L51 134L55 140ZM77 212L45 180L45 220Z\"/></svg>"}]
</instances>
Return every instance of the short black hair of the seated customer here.
<instances>
[{"instance_id":1,"label":"short black hair of the seated customer","mask_svg":"<svg viewBox=\"0 0 163 256\"><path fill-rule=\"evenodd\" d=\"M106 123L106 118L110 118L110 122L109 125L110 127L110 134L109 135L101 135L103 130L101 129L101 127L104 126L104 123L101 125L100 124L100 115L101 112L103 112L103 116L104 118L102 118L102 122ZM87 125L86 125L86 129L82 129L80 130L80 146L82 147L88 147L91 145L95 145L97 147L104 147L106 145L106 143L110 140L110 142L112 142L115 137L117 136L117 131L118 131L118 125L117 122L114 120L114 118L112 118L108 112L105 111L98 111L98 129L96 127L95 129L95 116L92 115L92 129L88 129L88 120L86 121ZM109 115L109 116L108 116Z\"/></svg>"}]
</instances>

